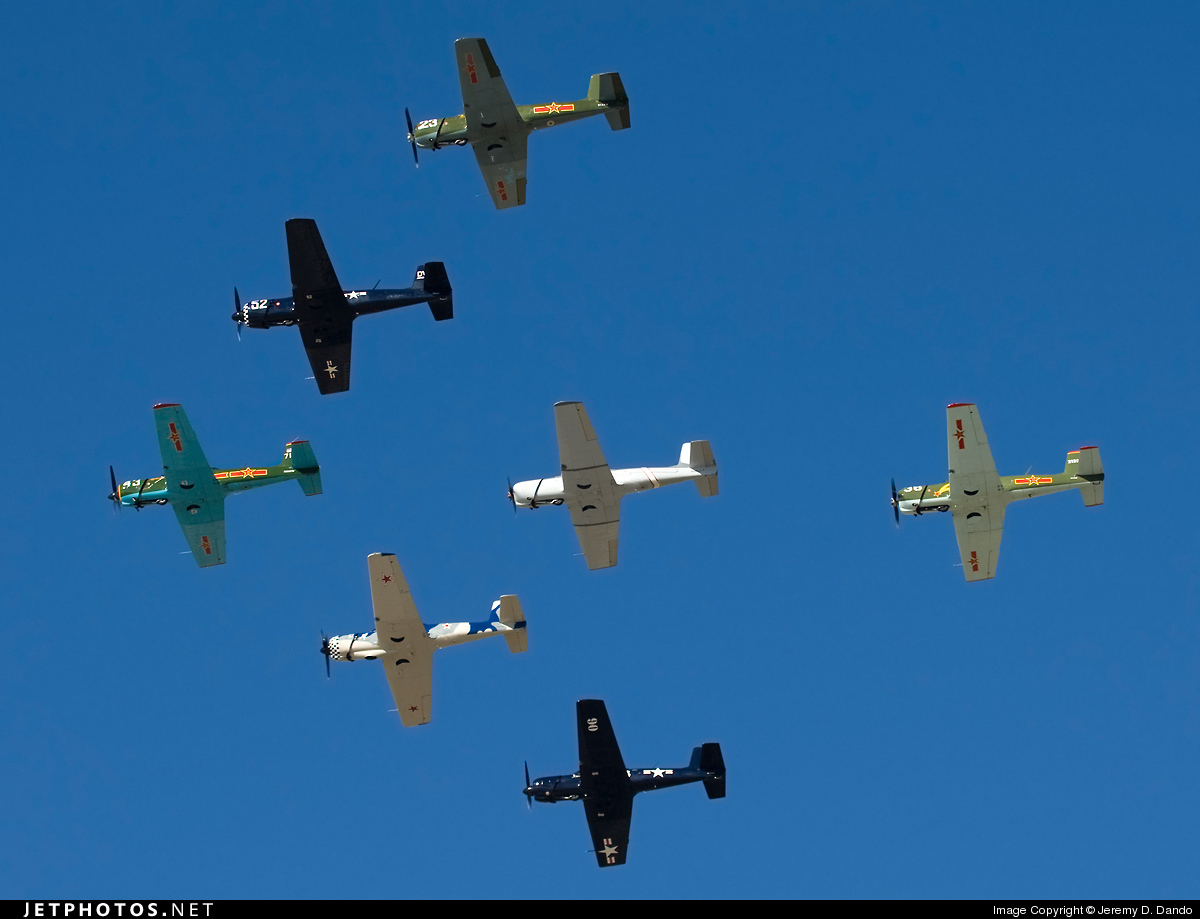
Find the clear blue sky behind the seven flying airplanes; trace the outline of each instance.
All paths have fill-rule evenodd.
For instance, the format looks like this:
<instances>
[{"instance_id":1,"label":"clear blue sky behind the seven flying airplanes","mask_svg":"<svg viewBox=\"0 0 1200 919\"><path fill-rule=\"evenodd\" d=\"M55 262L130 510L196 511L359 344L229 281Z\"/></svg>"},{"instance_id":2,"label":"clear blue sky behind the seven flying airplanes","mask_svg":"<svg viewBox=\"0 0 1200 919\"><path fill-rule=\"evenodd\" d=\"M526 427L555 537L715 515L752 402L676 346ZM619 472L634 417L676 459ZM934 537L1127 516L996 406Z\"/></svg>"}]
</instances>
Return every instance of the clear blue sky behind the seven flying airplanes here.
<instances>
[{"instance_id":1,"label":"clear blue sky behind the seven flying airplanes","mask_svg":"<svg viewBox=\"0 0 1200 919\"><path fill-rule=\"evenodd\" d=\"M1200 894L1200 8L444 6L7 12L0 895ZM469 151L414 169L469 35L518 102L619 71L632 130L533 138L515 211ZM444 260L456 318L361 320L319 397L294 330L229 320L289 292L295 216L347 286ZM630 498L588 572L504 499L558 400L614 465L709 439L720 495ZM1015 506L977 584L888 507L960 401L1002 474L1109 475ZM310 439L324 495L238 498L199 570L104 500L155 402L218 464ZM428 727L373 663L325 679L378 551L426 619L529 617L526 655L438 655ZM728 764L638 798L619 870L521 795L584 697L630 764Z\"/></svg>"}]
</instances>

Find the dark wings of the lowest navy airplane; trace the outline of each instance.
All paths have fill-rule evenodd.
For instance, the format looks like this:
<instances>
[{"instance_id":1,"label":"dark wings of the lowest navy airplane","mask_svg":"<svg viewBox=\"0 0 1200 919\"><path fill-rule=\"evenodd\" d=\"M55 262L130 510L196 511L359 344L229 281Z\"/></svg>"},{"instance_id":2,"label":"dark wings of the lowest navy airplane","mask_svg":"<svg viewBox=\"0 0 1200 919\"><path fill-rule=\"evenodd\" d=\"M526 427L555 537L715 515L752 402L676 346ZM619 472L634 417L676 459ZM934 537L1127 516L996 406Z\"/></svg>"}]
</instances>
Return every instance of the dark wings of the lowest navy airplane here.
<instances>
[{"instance_id":1,"label":"dark wings of the lowest navy airplane","mask_svg":"<svg viewBox=\"0 0 1200 919\"><path fill-rule=\"evenodd\" d=\"M600 699L575 705L580 733L580 783L583 812L600 867L624 865L634 788L617 746L608 711Z\"/></svg>"}]
</instances>

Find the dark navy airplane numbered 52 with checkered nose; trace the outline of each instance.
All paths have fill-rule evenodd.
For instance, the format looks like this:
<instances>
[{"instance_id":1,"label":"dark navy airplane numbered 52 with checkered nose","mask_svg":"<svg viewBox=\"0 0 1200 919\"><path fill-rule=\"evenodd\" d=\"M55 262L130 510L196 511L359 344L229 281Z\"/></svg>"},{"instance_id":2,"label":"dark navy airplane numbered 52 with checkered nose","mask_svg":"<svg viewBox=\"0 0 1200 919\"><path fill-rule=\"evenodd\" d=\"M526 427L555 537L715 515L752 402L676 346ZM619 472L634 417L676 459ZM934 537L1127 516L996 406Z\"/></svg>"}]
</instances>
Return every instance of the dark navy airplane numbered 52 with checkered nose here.
<instances>
[{"instance_id":1,"label":"dark navy airplane numbered 52 with checkered nose","mask_svg":"<svg viewBox=\"0 0 1200 919\"><path fill-rule=\"evenodd\" d=\"M454 292L440 262L419 265L416 280L404 290L343 290L317 222L290 220L287 234L292 296L242 304L234 288L233 320L238 323L238 337L241 337L242 325L251 329L299 325L322 395L346 392L350 388L350 330L360 316L428 304L438 322L454 319Z\"/></svg>"}]
</instances>

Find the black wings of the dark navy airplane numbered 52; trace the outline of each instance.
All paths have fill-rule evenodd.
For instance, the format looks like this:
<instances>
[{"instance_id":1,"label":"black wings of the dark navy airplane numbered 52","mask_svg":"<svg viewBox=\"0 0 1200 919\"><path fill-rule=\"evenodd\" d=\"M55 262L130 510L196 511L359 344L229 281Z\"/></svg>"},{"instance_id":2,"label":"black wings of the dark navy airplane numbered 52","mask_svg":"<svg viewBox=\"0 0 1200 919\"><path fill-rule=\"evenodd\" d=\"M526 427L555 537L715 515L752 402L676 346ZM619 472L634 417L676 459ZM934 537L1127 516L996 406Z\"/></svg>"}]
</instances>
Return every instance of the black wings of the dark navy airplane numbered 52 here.
<instances>
[{"instance_id":1,"label":"black wings of the dark navy airplane numbered 52","mask_svg":"<svg viewBox=\"0 0 1200 919\"><path fill-rule=\"evenodd\" d=\"M317 389L323 395L350 388L350 331L354 313L346 306L342 283L325 252L317 222L287 222L292 299L300 338L308 354Z\"/></svg>"}]
</instances>

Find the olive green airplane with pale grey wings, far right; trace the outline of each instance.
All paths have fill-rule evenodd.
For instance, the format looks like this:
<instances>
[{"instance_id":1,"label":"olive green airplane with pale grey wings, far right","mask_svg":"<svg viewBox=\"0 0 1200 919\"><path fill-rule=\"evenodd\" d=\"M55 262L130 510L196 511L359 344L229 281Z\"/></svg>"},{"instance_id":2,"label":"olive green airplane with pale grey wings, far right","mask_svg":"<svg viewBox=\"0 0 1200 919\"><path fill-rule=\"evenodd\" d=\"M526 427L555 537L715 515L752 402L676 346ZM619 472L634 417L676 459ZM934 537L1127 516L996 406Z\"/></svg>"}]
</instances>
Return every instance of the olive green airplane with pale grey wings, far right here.
<instances>
[{"instance_id":1,"label":"olive green airplane with pale grey wings, far right","mask_svg":"<svg viewBox=\"0 0 1200 919\"><path fill-rule=\"evenodd\" d=\"M911 485L899 492L893 480L892 510L896 525L901 513L919 517L931 511L950 511L967 581L996 576L1000 536L1009 503L1079 488L1086 506L1104 504L1099 448L1072 450L1067 454L1066 468L1056 475L1000 476L979 412L972 403L955 402L946 407L946 433L950 480L940 485Z\"/></svg>"}]
</instances>

